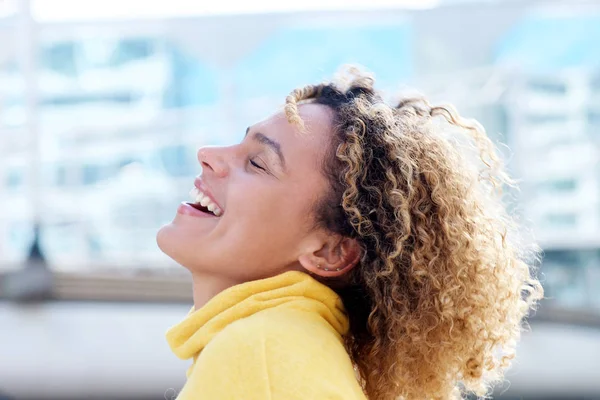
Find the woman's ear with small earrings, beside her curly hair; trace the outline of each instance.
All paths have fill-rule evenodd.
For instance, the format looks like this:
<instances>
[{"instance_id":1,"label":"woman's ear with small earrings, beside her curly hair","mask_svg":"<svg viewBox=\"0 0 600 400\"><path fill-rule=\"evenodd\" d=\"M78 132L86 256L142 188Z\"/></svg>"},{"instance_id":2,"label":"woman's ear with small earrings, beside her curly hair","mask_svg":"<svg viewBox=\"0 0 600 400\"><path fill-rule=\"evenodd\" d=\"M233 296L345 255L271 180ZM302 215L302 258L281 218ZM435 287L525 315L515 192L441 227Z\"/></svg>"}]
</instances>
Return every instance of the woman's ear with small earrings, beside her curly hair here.
<instances>
[{"instance_id":1,"label":"woman's ear with small earrings, beside her curly hair","mask_svg":"<svg viewBox=\"0 0 600 400\"><path fill-rule=\"evenodd\" d=\"M356 239L328 234L320 246L307 250L298 257L304 269L315 275L335 277L344 275L358 264L362 253Z\"/></svg>"}]
</instances>

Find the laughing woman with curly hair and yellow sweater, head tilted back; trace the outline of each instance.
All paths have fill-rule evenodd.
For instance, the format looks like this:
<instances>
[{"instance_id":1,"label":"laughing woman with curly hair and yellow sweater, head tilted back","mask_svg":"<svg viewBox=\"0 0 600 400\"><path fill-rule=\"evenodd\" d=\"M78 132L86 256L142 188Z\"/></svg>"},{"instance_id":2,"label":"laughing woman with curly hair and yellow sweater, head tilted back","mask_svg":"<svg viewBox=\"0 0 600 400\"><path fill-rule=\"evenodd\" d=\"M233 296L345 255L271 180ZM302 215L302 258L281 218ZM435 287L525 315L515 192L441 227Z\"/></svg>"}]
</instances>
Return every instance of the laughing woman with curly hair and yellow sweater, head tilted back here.
<instances>
[{"instance_id":1,"label":"laughing woman with curly hair and yellow sweater, head tilted back","mask_svg":"<svg viewBox=\"0 0 600 400\"><path fill-rule=\"evenodd\" d=\"M193 358L179 399L448 399L509 365L542 297L513 182L479 125L373 82L296 89L198 151L193 201L157 236L193 277L167 334Z\"/></svg>"}]
</instances>

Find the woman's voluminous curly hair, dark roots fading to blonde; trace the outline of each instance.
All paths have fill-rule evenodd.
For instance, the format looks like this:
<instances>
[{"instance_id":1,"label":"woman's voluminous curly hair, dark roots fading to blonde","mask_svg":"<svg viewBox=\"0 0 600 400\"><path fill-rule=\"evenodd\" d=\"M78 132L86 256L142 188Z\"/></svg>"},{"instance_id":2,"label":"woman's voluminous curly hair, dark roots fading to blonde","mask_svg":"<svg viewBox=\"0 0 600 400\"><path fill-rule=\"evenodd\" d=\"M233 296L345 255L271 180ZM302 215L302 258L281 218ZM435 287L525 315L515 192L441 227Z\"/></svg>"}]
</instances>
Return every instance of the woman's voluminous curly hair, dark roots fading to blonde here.
<instances>
[{"instance_id":1,"label":"woman's voluminous curly hair, dark roots fading to blonde","mask_svg":"<svg viewBox=\"0 0 600 400\"><path fill-rule=\"evenodd\" d=\"M485 396L543 296L539 249L504 204L515 182L475 121L421 98L390 106L372 76L346 72L294 90L285 113L303 127L298 104L333 110L332 190L316 214L362 246L359 265L326 281L350 318L357 376L371 400Z\"/></svg>"}]
</instances>

